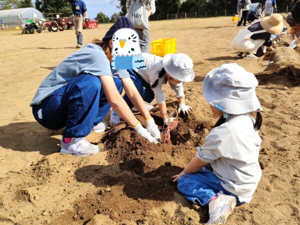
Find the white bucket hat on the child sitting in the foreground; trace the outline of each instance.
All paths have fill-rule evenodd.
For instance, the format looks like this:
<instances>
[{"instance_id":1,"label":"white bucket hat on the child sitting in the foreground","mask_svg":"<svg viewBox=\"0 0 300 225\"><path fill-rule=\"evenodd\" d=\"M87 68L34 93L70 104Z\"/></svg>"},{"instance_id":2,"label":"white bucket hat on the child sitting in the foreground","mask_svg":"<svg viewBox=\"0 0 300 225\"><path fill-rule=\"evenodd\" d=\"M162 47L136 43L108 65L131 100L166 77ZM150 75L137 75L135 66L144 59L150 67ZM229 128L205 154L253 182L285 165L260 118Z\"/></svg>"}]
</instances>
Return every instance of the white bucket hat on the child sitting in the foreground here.
<instances>
[{"instance_id":1,"label":"white bucket hat on the child sitting in the foreground","mask_svg":"<svg viewBox=\"0 0 300 225\"><path fill-rule=\"evenodd\" d=\"M209 104L229 114L255 111L260 103L255 93L258 81L236 63L222 64L207 73L203 95Z\"/></svg>"}]
</instances>

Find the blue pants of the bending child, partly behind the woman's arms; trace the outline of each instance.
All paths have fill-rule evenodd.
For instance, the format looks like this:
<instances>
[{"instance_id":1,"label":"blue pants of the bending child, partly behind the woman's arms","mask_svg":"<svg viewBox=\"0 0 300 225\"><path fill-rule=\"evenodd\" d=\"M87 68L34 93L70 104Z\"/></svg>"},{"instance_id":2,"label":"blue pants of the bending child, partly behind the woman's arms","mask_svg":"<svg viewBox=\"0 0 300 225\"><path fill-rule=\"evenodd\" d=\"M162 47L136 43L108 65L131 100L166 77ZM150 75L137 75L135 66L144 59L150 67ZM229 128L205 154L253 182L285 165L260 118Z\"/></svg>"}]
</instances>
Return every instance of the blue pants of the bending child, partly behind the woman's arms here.
<instances>
[{"instance_id":1,"label":"blue pants of the bending child, partly behind the woman's arms","mask_svg":"<svg viewBox=\"0 0 300 225\"><path fill-rule=\"evenodd\" d=\"M152 100L154 99L154 92L151 89L151 86L149 83L144 81L138 74L136 74L133 70L128 69L130 78L132 79L137 91L139 92L140 96L142 99L148 103L151 103ZM124 94L123 99L126 101L128 104L129 108L133 107L132 102L128 98L126 94Z\"/></svg>"}]
</instances>

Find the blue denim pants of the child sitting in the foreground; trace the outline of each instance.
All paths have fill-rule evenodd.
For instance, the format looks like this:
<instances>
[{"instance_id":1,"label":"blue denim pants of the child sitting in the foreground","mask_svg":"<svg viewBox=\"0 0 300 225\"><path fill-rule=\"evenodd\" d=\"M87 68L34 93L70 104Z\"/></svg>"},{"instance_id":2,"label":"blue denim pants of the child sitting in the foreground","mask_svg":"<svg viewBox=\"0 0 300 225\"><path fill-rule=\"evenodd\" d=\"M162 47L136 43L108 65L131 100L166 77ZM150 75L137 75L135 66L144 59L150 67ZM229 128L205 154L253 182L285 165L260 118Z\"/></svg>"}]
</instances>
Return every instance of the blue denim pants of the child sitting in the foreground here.
<instances>
[{"instance_id":1,"label":"blue denim pants of the child sitting in the foreground","mask_svg":"<svg viewBox=\"0 0 300 225\"><path fill-rule=\"evenodd\" d=\"M224 194L234 196L236 205L244 203L238 200L237 195L225 190L220 179L207 167L203 167L196 173L187 173L180 176L177 181L177 189L187 200L201 205L207 204L210 198L220 190Z\"/></svg>"}]
</instances>

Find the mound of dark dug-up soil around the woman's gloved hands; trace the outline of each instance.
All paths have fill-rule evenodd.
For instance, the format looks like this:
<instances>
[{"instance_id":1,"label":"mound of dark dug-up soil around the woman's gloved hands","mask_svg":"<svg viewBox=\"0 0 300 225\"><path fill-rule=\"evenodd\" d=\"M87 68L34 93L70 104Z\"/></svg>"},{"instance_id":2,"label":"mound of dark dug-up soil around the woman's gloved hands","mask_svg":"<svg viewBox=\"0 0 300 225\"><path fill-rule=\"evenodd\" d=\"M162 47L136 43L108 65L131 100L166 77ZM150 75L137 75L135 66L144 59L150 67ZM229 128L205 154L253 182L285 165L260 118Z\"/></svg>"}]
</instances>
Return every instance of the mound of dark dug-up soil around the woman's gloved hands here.
<instances>
[{"instance_id":1,"label":"mound of dark dug-up soil around the woman's gloved hands","mask_svg":"<svg viewBox=\"0 0 300 225\"><path fill-rule=\"evenodd\" d=\"M154 119L156 113L152 115ZM107 160L121 162L123 169L136 174L145 174L161 165L184 166L194 156L195 146L203 143L211 124L200 122L193 116L178 119L177 128L170 132L171 142L165 144L149 143L124 123L112 127L102 139L105 149L109 149ZM160 120L157 119L156 124L161 125Z\"/></svg>"}]
</instances>

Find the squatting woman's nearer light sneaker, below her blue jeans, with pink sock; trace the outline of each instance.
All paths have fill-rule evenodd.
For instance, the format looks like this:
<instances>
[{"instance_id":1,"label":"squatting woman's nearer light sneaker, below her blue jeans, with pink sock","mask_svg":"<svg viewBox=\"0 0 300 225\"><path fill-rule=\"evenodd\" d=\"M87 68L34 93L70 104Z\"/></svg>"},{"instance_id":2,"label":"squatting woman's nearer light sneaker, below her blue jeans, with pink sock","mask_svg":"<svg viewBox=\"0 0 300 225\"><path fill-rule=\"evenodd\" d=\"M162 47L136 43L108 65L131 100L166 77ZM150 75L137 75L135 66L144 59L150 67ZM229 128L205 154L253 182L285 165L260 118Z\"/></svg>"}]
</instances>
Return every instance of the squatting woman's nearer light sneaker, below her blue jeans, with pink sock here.
<instances>
[{"instance_id":1,"label":"squatting woman's nearer light sneaker, below her blue jeans, with pink sock","mask_svg":"<svg viewBox=\"0 0 300 225\"><path fill-rule=\"evenodd\" d=\"M75 154L78 156L96 154L101 150L100 146L89 143L84 137L73 137L69 143L64 143L61 138L60 147L61 153Z\"/></svg>"}]
</instances>

